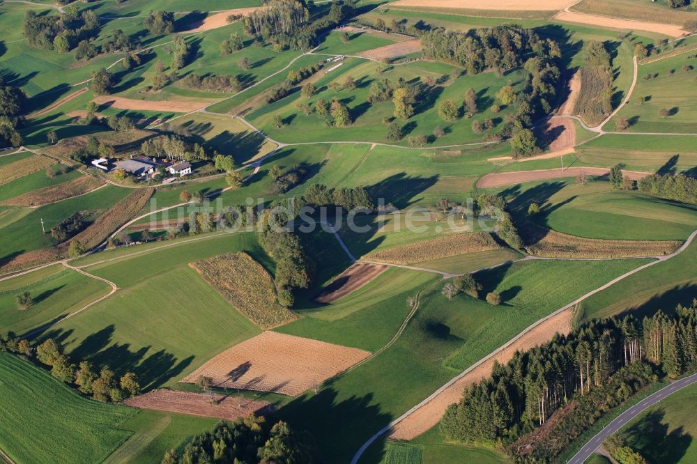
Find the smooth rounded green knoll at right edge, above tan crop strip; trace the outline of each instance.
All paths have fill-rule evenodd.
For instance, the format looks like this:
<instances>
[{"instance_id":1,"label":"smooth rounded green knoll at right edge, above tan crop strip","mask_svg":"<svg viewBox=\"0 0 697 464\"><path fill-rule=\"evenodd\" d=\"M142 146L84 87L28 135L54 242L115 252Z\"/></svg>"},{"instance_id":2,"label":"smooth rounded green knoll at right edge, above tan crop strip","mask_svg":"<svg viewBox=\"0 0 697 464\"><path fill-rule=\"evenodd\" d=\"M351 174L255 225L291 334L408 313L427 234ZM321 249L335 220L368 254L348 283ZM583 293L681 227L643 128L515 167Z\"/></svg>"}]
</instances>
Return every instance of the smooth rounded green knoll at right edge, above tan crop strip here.
<instances>
[{"instance_id":1,"label":"smooth rounded green knoll at right edge, above tan crop strip","mask_svg":"<svg viewBox=\"0 0 697 464\"><path fill-rule=\"evenodd\" d=\"M598 181L530 183L504 190L525 214L530 203L544 205L537 222L588 238L684 240L697 226L697 209L637 191L611 190Z\"/></svg>"}]
</instances>

